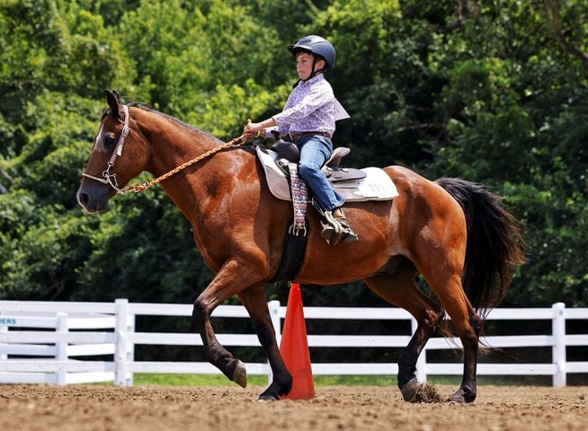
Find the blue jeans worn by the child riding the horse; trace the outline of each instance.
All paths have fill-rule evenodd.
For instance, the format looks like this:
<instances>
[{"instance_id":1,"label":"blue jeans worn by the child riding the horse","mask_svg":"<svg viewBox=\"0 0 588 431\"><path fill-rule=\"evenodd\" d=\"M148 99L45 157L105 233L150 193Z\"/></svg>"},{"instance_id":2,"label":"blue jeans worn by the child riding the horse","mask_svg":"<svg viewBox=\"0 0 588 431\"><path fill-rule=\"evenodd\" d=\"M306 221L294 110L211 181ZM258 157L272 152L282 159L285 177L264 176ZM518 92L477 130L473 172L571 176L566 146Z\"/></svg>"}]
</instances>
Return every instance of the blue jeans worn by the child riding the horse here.
<instances>
[{"instance_id":1,"label":"blue jeans worn by the child riding the horse","mask_svg":"<svg viewBox=\"0 0 588 431\"><path fill-rule=\"evenodd\" d=\"M323 164L333 154L333 143L325 136L302 136L295 142L300 150L298 170L308 189L326 211L341 207L345 198L337 193L321 172Z\"/></svg>"}]
</instances>

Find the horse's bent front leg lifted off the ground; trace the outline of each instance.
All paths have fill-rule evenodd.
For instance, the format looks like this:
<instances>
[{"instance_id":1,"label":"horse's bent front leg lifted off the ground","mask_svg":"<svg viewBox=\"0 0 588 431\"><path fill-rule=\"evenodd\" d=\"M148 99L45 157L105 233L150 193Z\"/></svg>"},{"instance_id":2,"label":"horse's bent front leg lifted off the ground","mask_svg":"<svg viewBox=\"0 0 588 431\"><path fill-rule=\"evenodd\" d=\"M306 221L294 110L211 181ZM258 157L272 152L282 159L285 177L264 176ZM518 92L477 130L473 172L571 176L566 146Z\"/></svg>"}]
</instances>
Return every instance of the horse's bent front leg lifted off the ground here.
<instances>
[{"instance_id":1,"label":"horse's bent front leg lifted off the ground","mask_svg":"<svg viewBox=\"0 0 588 431\"><path fill-rule=\"evenodd\" d=\"M200 332L204 350L210 364L218 367L229 380L245 388L247 371L245 365L233 356L219 342L210 322L210 314L227 298L236 295L247 286L247 280L254 277L251 271L235 261L227 262L212 279L202 293L196 298L192 311L192 320Z\"/></svg>"}]
</instances>

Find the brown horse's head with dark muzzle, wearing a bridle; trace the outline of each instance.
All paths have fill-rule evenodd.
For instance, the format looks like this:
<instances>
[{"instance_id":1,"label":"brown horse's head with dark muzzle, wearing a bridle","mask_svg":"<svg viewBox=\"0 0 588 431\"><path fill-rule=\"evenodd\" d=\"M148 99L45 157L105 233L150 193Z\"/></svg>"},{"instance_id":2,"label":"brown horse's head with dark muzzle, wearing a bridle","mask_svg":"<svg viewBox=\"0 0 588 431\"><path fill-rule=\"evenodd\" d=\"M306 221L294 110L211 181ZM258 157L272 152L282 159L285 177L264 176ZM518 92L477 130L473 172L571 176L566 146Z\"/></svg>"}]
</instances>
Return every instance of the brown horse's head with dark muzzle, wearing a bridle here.
<instances>
[{"instance_id":1,"label":"brown horse's head with dark muzzle, wearing a bridle","mask_svg":"<svg viewBox=\"0 0 588 431\"><path fill-rule=\"evenodd\" d=\"M77 202L88 213L108 209L108 199L129 180L143 172L149 160L145 136L130 118L129 107L117 92L106 92L108 110L104 111L94 148L85 167ZM124 151L123 151L124 150Z\"/></svg>"}]
</instances>

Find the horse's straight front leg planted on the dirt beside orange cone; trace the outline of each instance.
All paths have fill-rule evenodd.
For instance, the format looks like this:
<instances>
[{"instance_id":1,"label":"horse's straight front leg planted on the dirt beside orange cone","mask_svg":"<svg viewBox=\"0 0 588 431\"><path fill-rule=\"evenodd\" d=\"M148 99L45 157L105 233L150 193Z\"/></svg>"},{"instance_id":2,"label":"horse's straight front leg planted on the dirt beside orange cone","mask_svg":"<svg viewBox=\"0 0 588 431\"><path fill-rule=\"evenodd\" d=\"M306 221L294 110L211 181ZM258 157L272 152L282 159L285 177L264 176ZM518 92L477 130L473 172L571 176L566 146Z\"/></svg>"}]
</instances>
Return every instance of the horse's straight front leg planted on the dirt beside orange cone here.
<instances>
[{"instance_id":1,"label":"horse's straight front leg planted on the dirt beside orange cone","mask_svg":"<svg viewBox=\"0 0 588 431\"><path fill-rule=\"evenodd\" d=\"M272 383L259 396L260 400L279 400L292 388L292 376L281 358L280 349L273 330L272 318L267 306L263 285L250 287L238 294L254 324L259 342L272 367Z\"/></svg>"}]
</instances>

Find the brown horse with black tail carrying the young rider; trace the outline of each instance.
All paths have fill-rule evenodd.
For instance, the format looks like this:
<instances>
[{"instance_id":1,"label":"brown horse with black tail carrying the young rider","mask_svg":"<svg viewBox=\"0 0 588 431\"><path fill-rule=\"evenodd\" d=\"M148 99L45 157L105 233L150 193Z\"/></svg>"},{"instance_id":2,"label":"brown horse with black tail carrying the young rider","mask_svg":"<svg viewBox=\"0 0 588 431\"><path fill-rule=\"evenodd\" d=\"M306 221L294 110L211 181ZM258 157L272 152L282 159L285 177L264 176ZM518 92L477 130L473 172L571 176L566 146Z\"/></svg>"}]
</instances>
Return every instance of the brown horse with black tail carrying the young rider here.
<instances>
[{"instance_id":1,"label":"brown horse with black tail carrying the young rider","mask_svg":"<svg viewBox=\"0 0 588 431\"><path fill-rule=\"evenodd\" d=\"M196 299L192 318L210 363L245 387L245 365L220 345L210 322L218 304L237 295L272 366L272 383L260 399L280 399L292 378L276 342L264 284L280 265L290 204L272 197L251 148L225 145L217 151L222 144L217 138L178 119L124 105L116 92L107 92L107 102L77 191L79 204L89 213L106 211L115 188L140 172L160 176L210 154L161 182L192 224L196 245L216 274ZM388 303L414 316L418 329L398 360L405 400L418 391L416 359L447 312L464 348L463 381L450 400L473 401L483 322L477 311L500 302L512 268L524 259L516 220L477 184L425 180L397 166L385 171L398 198L345 206L359 242L328 245L316 212L308 211L307 252L296 281L334 285L363 279ZM416 286L419 273L439 303Z\"/></svg>"}]
</instances>

